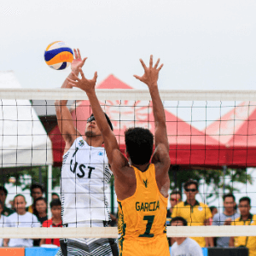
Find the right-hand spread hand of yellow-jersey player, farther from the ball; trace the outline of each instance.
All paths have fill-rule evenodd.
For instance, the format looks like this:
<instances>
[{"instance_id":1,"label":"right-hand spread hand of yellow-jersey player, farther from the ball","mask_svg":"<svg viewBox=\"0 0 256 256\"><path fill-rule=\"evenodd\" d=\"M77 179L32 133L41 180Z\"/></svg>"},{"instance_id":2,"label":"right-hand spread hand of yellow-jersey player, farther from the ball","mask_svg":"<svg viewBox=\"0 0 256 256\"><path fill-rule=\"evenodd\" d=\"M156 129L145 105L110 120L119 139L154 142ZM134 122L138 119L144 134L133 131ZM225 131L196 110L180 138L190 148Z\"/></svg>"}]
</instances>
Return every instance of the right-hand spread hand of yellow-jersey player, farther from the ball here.
<instances>
[{"instance_id":1,"label":"right-hand spread hand of yellow-jersey player, farther from the ball","mask_svg":"<svg viewBox=\"0 0 256 256\"><path fill-rule=\"evenodd\" d=\"M144 74L142 77L139 77L137 75L134 75L134 77L136 79L139 79L141 82L147 84L149 88L151 86L157 86L158 74L164 64L161 64L160 67L158 67L160 62L160 59L158 59L153 67L153 55L150 55L149 67L146 67L142 59L140 59L140 61L144 68Z\"/></svg>"}]
</instances>

